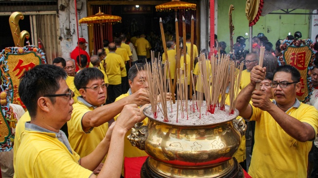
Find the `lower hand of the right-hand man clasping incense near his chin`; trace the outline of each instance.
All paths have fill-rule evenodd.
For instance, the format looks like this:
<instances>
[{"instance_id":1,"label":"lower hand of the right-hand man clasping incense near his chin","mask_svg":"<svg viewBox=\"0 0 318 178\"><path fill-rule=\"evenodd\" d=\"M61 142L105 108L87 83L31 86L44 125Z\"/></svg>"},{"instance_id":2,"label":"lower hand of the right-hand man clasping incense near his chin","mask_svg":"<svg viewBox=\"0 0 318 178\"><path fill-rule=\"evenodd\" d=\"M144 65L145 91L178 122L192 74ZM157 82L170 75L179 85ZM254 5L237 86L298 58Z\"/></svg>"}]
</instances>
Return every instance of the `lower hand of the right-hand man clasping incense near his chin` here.
<instances>
[{"instance_id":1,"label":"lower hand of the right-hand man clasping incense near his chin","mask_svg":"<svg viewBox=\"0 0 318 178\"><path fill-rule=\"evenodd\" d=\"M252 102L254 107L258 107L263 111L268 111L274 105L268 98L265 91L255 90L252 95Z\"/></svg>"}]
</instances>

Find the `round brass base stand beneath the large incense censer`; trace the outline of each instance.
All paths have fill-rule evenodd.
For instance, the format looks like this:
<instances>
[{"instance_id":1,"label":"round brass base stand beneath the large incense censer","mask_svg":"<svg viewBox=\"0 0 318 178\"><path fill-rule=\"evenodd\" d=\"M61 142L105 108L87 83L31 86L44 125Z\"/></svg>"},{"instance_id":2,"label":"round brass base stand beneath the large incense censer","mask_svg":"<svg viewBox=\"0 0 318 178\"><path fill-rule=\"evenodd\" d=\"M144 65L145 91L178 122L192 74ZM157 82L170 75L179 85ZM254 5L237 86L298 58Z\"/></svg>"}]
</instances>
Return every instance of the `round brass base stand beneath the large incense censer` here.
<instances>
[{"instance_id":1,"label":"round brass base stand beneath the large incense censer","mask_svg":"<svg viewBox=\"0 0 318 178\"><path fill-rule=\"evenodd\" d=\"M141 178L244 178L243 168L235 158L208 167L170 167L147 158L140 171Z\"/></svg>"}]
</instances>

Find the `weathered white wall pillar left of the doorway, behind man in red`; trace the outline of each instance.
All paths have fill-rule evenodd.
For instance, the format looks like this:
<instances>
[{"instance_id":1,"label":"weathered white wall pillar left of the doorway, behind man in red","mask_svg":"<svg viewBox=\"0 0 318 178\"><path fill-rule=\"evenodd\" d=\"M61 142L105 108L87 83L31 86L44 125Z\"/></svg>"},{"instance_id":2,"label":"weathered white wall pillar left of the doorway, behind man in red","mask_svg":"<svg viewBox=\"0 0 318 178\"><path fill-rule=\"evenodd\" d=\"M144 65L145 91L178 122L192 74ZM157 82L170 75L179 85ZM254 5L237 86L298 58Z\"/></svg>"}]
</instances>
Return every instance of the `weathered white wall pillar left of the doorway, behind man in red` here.
<instances>
[{"instance_id":1,"label":"weathered white wall pillar left of the doorway, behind man in red","mask_svg":"<svg viewBox=\"0 0 318 178\"><path fill-rule=\"evenodd\" d=\"M86 0L82 1L82 9L77 11L77 19L87 17ZM75 0L58 0L58 7L63 4L66 8L64 11L59 10L59 27L61 52L64 59L70 58L70 53L74 50L77 45L77 29L76 29L76 16L75 16ZM79 14L79 15L78 15ZM88 31L86 25L78 26L79 37L83 37L88 40ZM87 47L86 51L88 51Z\"/></svg>"}]
</instances>

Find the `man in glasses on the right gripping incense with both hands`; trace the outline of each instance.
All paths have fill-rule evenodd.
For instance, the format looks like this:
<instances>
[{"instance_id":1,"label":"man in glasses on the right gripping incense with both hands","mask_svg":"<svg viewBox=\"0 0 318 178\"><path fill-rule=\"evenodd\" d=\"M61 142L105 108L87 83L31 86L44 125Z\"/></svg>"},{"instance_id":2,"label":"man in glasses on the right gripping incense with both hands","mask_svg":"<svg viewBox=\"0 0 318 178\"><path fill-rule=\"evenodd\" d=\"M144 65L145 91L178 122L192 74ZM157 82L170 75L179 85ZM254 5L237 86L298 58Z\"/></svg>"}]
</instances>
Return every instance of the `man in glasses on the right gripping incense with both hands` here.
<instances>
[{"instance_id":1,"label":"man in glasses on the right gripping incense with both hands","mask_svg":"<svg viewBox=\"0 0 318 178\"><path fill-rule=\"evenodd\" d=\"M255 90L266 68L256 66L251 82L237 97L236 108L247 121L256 121L255 145L248 173L253 178L306 178L308 152L318 129L318 111L299 102L299 71L281 66L270 83L274 100ZM252 99L253 104L249 104Z\"/></svg>"}]
</instances>

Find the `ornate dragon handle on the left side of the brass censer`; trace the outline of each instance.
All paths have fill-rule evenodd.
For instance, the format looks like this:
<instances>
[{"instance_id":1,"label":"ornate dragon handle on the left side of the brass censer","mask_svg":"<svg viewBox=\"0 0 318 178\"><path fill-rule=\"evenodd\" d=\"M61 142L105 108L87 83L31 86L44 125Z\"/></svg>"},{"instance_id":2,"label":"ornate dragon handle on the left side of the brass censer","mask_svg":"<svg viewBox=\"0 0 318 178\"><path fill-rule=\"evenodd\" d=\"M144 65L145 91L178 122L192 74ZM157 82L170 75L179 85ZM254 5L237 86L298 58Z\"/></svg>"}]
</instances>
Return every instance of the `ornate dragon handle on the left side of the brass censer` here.
<instances>
[{"instance_id":1,"label":"ornate dragon handle on the left side of the brass censer","mask_svg":"<svg viewBox=\"0 0 318 178\"><path fill-rule=\"evenodd\" d=\"M127 139L131 142L132 146L136 146L140 150L145 150L145 142L148 138L148 126L144 123L136 123L131 128L131 134ZM142 126L143 125L143 126Z\"/></svg>"}]
</instances>

